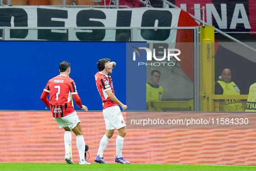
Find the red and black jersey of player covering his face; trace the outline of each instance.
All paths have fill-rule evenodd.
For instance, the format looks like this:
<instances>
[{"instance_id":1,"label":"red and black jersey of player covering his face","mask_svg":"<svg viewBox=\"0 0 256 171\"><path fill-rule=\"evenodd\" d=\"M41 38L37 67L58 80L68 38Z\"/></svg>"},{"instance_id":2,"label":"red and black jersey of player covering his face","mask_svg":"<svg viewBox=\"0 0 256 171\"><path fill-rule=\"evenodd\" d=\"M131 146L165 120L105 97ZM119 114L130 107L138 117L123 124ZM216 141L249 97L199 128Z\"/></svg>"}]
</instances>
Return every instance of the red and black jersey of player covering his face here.
<instances>
[{"instance_id":1,"label":"red and black jersey of player covering his face","mask_svg":"<svg viewBox=\"0 0 256 171\"><path fill-rule=\"evenodd\" d=\"M113 94L115 94L111 76L105 75L102 72L97 72L95 74L95 81L97 89L100 93L100 97L103 102L103 109L106 109L111 106L118 106L117 103L110 100L106 93L107 90L112 90Z\"/></svg>"}]
</instances>

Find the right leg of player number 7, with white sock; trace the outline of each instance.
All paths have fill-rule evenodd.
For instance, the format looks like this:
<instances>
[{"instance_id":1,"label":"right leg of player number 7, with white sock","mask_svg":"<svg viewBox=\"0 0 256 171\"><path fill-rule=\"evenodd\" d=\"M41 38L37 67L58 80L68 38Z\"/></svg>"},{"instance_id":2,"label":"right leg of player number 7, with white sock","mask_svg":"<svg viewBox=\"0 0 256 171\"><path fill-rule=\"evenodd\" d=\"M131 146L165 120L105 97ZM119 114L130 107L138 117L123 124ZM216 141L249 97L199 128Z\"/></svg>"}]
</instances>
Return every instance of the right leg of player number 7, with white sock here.
<instances>
[{"instance_id":1,"label":"right leg of player number 7, with white sock","mask_svg":"<svg viewBox=\"0 0 256 171\"><path fill-rule=\"evenodd\" d=\"M72 131L76 135L76 146L78 148L78 153L80 157L80 165L91 165L91 163L88 163L84 160L84 152L85 152L85 142L84 142L84 135L81 127L81 123L78 123L77 126L75 126Z\"/></svg>"}]
</instances>

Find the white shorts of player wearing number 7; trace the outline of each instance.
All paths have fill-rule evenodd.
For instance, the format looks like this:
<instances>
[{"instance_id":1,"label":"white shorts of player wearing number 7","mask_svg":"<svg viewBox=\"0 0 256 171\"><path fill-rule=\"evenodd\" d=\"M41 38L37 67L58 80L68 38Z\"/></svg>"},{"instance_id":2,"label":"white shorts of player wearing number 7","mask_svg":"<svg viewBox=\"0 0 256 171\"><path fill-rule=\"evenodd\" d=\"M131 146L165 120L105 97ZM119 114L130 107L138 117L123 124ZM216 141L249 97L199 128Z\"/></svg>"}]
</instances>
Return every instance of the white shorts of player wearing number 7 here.
<instances>
[{"instance_id":1,"label":"white shorts of player wearing number 7","mask_svg":"<svg viewBox=\"0 0 256 171\"><path fill-rule=\"evenodd\" d=\"M76 114L76 111L73 113L70 113L69 115L61 118L54 118L55 121L57 121L59 128L65 128L69 127L71 130L74 129L78 123L80 123L80 119L78 118L78 115Z\"/></svg>"}]
</instances>

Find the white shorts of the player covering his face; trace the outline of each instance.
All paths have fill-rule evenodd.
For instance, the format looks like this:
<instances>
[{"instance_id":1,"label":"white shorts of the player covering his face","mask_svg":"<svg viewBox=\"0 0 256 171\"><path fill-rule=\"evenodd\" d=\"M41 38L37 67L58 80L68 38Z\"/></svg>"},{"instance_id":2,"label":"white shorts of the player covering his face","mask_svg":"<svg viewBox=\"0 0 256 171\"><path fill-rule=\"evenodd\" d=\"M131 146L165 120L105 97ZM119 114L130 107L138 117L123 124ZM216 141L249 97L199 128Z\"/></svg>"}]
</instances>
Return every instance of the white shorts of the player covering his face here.
<instances>
[{"instance_id":1,"label":"white shorts of the player covering his face","mask_svg":"<svg viewBox=\"0 0 256 171\"><path fill-rule=\"evenodd\" d=\"M120 129L126 126L119 106L111 106L104 109L103 116L107 130Z\"/></svg>"}]
</instances>

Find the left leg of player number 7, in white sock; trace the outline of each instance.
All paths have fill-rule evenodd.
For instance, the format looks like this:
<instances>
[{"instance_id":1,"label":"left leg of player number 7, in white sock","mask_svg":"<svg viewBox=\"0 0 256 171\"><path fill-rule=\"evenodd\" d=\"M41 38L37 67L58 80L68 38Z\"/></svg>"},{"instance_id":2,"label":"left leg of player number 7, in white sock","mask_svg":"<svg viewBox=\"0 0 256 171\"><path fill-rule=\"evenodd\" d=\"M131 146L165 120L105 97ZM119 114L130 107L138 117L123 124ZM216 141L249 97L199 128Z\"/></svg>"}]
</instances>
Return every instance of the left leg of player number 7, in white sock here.
<instances>
[{"instance_id":1,"label":"left leg of player number 7, in white sock","mask_svg":"<svg viewBox=\"0 0 256 171\"><path fill-rule=\"evenodd\" d=\"M65 161L68 164L73 164L71 153L70 153L70 146L71 146L71 139L72 139L72 132L68 127L65 127L65 134L64 134L64 143L65 143Z\"/></svg>"}]
</instances>

